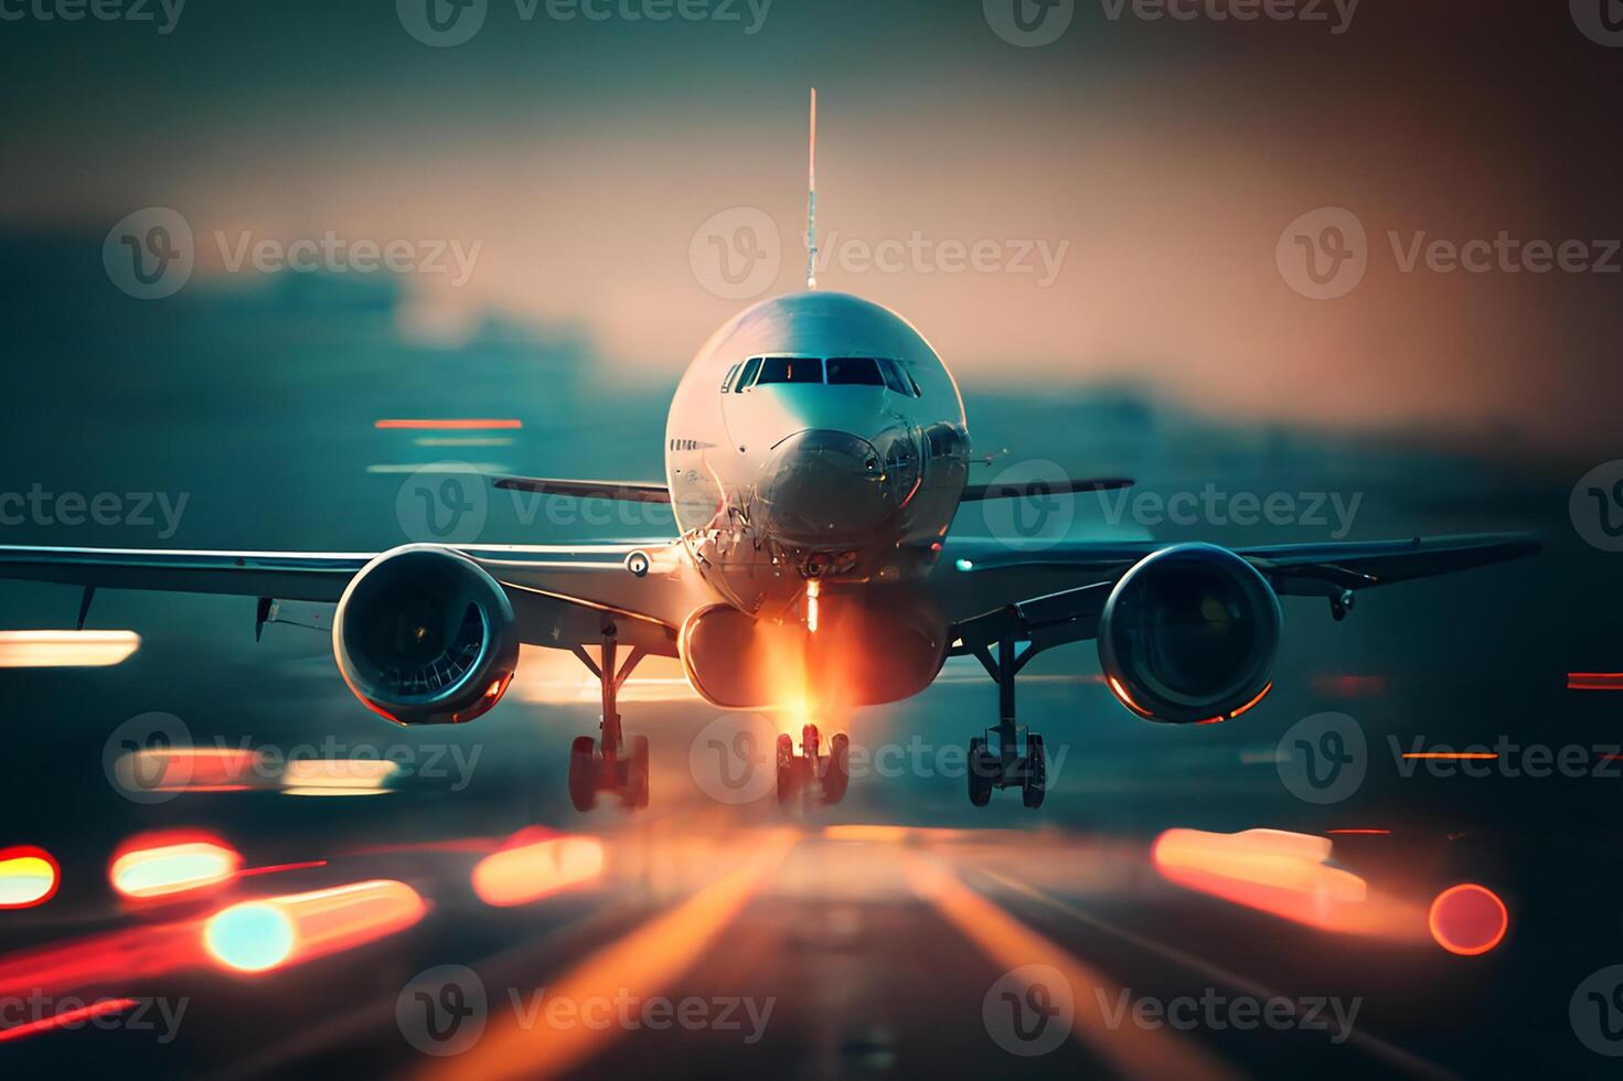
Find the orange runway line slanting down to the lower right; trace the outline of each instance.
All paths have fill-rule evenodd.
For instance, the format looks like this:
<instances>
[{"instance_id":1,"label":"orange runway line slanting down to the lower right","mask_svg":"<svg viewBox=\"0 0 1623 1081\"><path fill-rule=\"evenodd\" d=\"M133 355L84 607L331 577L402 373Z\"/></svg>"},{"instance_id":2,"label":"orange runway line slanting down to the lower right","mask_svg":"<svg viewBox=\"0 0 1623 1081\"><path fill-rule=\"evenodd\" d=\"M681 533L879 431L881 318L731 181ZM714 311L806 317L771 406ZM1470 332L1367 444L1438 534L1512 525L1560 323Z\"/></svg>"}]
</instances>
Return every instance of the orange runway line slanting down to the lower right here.
<instances>
[{"instance_id":1,"label":"orange runway line slanting down to the lower right","mask_svg":"<svg viewBox=\"0 0 1623 1081\"><path fill-rule=\"evenodd\" d=\"M1112 1027L1096 1003L1086 1001L1096 993L1100 995L1100 1001L1121 993L1121 987L1109 975L1083 964L1058 943L1026 927L961 883L936 860L912 852L904 859L907 883L914 891L1000 969L1013 971L1027 964L1048 964L1065 975L1076 995L1071 1037L1110 1063L1115 1075L1144 1078L1146 1081L1235 1076L1206 1049L1172 1029L1149 1029L1133 1024Z\"/></svg>"}]
</instances>

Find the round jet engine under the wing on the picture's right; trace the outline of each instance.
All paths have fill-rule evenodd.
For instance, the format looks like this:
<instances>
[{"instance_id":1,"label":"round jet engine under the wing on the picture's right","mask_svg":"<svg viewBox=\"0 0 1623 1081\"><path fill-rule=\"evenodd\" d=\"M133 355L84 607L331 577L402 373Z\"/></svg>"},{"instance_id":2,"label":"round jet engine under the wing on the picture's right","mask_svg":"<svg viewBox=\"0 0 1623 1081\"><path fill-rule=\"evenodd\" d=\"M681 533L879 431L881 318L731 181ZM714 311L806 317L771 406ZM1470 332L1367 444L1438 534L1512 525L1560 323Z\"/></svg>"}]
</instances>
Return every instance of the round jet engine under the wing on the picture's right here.
<instances>
[{"instance_id":1,"label":"round jet engine under the wing on the picture's right","mask_svg":"<svg viewBox=\"0 0 1623 1081\"><path fill-rule=\"evenodd\" d=\"M1099 617L1110 691L1147 721L1229 721L1268 693L1279 597L1243 558L1178 544L1139 560Z\"/></svg>"}]
</instances>

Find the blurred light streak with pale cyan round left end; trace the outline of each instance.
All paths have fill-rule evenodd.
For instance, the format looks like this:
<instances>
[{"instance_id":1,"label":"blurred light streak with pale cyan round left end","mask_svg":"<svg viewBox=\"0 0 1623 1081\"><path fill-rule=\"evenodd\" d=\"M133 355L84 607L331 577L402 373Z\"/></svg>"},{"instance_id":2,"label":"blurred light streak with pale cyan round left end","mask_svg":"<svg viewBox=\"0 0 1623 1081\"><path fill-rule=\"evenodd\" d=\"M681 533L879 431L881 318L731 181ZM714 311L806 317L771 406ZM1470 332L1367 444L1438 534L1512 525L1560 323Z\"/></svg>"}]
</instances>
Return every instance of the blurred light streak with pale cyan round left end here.
<instances>
[{"instance_id":1,"label":"blurred light streak with pale cyan round left end","mask_svg":"<svg viewBox=\"0 0 1623 1081\"><path fill-rule=\"evenodd\" d=\"M359 881L234 904L204 924L203 948L226 969L268 972L393 935L427 911L403 881Z\"/></svg>"}]
</instances>

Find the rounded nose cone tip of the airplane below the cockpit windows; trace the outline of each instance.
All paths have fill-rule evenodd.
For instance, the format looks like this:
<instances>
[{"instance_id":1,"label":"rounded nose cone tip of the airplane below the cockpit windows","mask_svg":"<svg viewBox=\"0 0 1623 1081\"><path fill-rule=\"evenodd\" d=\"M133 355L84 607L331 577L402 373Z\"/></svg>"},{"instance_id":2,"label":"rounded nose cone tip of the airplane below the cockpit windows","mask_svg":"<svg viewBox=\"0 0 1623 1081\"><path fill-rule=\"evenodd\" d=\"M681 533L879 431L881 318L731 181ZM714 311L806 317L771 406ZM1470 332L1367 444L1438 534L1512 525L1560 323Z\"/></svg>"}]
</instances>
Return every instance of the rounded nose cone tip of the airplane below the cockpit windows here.
<instances>
[{"instance_id":1,"label":"rounded nose cone tip of the airplane below the cockpit windows","mask_svg":"<svg viewBox=\"0 0 1623 1081\"><path fill-rule=\"evenodd\" d=\"M790 435L761 469L766 529L786 544L860 544L898 510L878 448L849 432Z\"/></svg>"}]
</instances>

